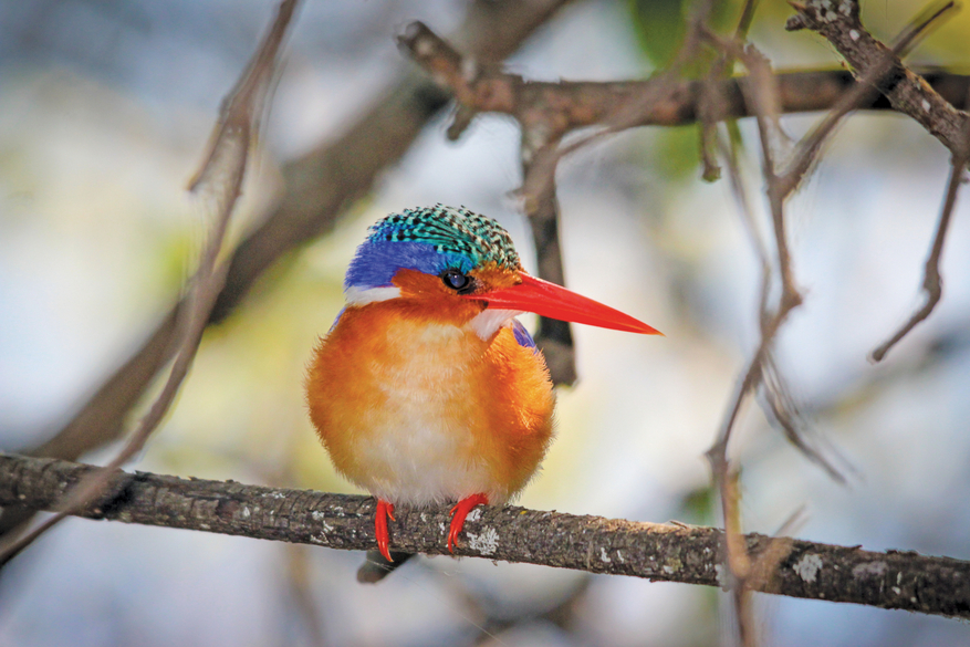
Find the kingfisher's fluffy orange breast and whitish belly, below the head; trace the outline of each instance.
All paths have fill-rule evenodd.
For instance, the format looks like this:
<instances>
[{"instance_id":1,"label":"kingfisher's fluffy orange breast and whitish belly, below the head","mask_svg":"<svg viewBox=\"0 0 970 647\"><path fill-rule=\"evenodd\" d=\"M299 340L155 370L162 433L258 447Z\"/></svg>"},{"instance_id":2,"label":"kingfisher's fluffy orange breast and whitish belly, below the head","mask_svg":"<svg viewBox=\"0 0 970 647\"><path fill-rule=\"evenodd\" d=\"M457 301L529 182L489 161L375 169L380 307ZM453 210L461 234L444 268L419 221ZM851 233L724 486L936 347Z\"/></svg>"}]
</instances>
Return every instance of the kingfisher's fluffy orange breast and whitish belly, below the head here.
<instances>
[{"instance_id":1,"label":"kingfisher's fluffy orange breast and whitish belly, below the head","mask_svg":"<svg viewBox=\"0 0 970 647\"><path fill-rule=\"evenodd\" d=\"M315 349L306 396L337 470L393 503L507 501L552 437L540 354L509 328L483 341L409 299L348 307Z\"/></svg>"}]
</instances>

